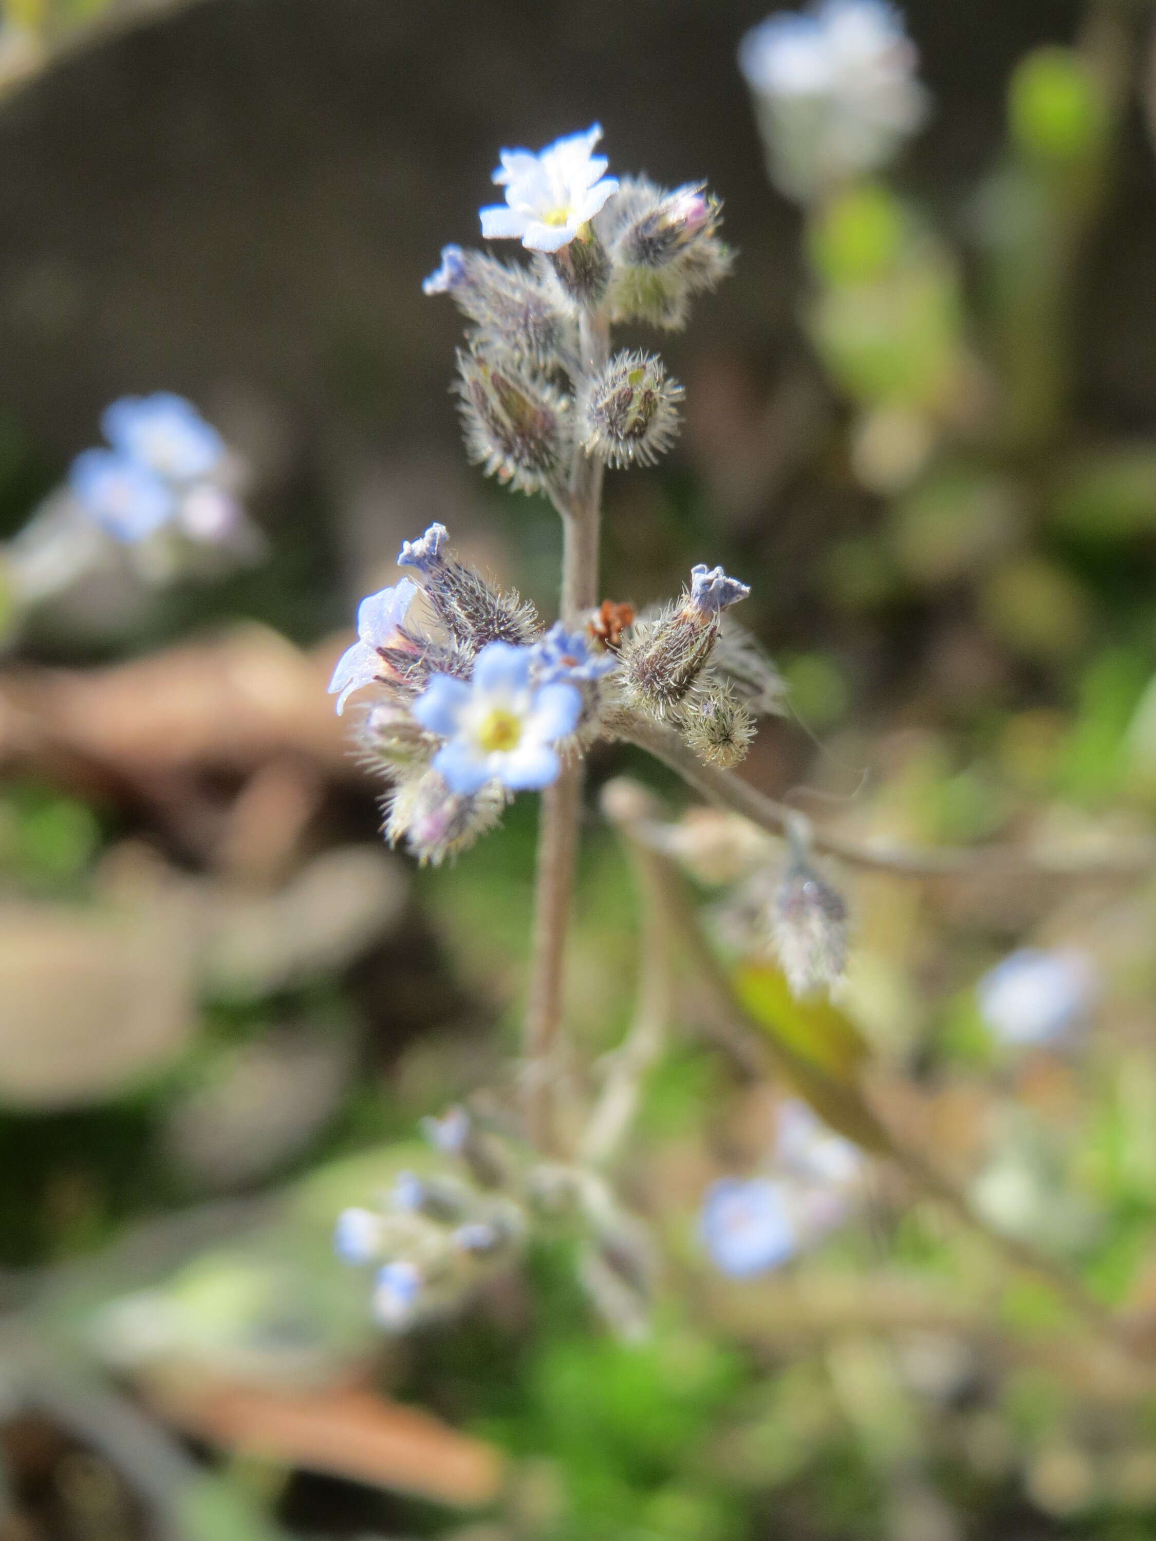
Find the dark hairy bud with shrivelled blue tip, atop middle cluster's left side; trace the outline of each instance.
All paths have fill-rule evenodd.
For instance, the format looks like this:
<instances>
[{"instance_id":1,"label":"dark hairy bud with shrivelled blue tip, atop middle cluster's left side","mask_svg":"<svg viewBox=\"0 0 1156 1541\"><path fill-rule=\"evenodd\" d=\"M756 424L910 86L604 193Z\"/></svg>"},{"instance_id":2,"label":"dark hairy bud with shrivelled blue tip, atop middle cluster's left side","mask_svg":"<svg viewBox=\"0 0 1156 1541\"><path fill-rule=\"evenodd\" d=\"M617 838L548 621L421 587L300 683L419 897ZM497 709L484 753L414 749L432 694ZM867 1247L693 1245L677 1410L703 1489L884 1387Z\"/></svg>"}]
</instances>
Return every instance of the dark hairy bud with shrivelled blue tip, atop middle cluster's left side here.
<instances>
[{"instance_id":1,"label":"dark hairy bud with shrivelled blue tip, atop middle cluster's left side","mask_svg":"<svg viewBox=\"0 0 1156 1541\"><path fill-rule=\"evenodd\" d=\"M418 573L422 593L450 636L470 653L481 650L487 643L521 646L533 641L538 635L538 615L533 606L524 604L516 593L492 589L472 567L453 556L447 547L449 538L444 524L432 524L419 539L402 541L398 566ZM432 658L428 647L424 649L424 656ZM422 687L428 684L430 675L438 672L461 676L467 670L455 667L453 658L439 656L433 667L425 670ZM404 678L407 683L416 683L407 675Z\"/></svg>"}]
</instances>

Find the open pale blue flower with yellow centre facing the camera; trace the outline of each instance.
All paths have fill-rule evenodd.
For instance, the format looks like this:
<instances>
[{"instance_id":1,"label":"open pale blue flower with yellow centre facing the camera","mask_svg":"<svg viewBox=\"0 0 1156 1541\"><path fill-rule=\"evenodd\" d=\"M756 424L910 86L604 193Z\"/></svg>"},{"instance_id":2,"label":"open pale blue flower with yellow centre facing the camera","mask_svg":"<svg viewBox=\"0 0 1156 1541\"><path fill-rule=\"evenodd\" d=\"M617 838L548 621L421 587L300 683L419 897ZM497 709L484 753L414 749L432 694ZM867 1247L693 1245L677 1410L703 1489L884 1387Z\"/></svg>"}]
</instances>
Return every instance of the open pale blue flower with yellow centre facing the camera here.
<instances>
[{"instance_id":1,"label":"open pale blue flower with yellow centre facing the camera","mask_svg":"<svg viewBox=\"0 0 1156 1541\"><path fill-rule=\"evenodd\" d=\"M538 791L556 780L553 744L578 726L583 698L572 684L532 686L532 664L533 649L489 643L469 684L435 675L413 703L422 727L447 740L433 769L453 792L469 797L487 781Z\"/></svg>"}]
</instances>

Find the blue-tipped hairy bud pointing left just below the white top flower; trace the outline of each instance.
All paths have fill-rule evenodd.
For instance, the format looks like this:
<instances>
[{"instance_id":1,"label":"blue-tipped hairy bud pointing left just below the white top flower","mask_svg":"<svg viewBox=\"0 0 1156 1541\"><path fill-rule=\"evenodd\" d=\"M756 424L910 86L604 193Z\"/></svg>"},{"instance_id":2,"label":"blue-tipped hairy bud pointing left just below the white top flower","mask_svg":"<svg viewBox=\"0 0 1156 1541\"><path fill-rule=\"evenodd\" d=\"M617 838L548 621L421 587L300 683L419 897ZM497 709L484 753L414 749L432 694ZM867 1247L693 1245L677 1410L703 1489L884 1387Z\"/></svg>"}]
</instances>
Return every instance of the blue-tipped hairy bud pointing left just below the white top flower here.
<instances>
[{"instance_id":1,"label":"blue-tipped hairy bud pointing left just below the white top flower","mask_svg":"<svg viewBox=\"0 0 1156 1541\"><path fill-rule=\"evenodd\" d=\"M422 290L449 294L487 345L502 344L543 370L573 362L575 317L566 310L544 257L524 268L481 251L442 247L441 267L425 279Z\"/></svg>"}]
</instances>

